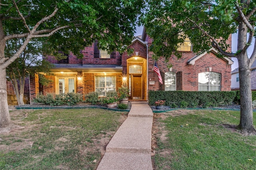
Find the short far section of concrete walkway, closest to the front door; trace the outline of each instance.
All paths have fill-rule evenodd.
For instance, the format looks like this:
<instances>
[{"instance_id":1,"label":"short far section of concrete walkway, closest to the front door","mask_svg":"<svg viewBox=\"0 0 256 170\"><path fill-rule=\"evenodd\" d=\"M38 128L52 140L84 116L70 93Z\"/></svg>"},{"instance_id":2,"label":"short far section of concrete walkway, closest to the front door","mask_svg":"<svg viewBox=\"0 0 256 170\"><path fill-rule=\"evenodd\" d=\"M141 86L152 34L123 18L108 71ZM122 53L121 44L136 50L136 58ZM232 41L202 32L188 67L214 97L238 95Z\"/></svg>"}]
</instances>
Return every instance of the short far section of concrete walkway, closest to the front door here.
<instances>
[{"instance_id":1,"label":"short far section of concrete walkway, closest to the front door","mask_svg":"<svg viewBox=\"0 0 256 170\"><path fill-rule=\"evenodd\" d=\"M148 104L135 104L132 105L128 117L153 117L153 111Z\"/></svg>"}]
</instances>

